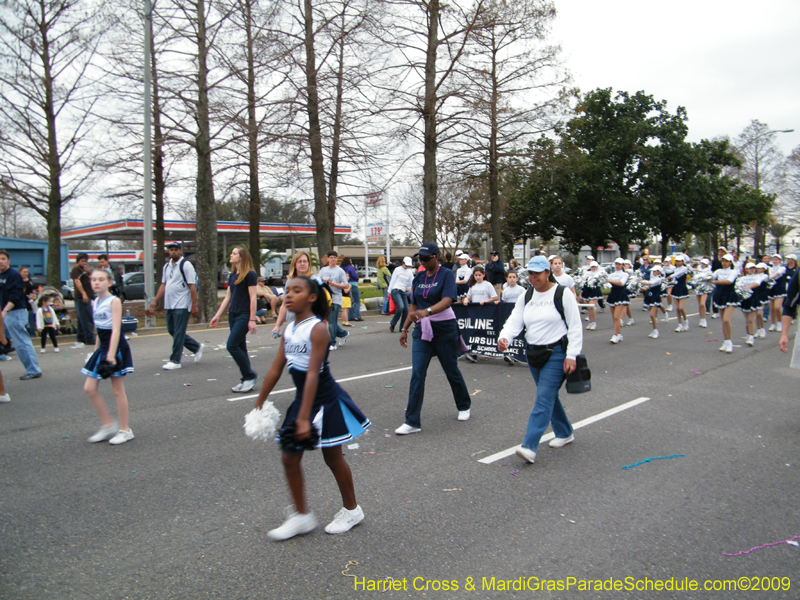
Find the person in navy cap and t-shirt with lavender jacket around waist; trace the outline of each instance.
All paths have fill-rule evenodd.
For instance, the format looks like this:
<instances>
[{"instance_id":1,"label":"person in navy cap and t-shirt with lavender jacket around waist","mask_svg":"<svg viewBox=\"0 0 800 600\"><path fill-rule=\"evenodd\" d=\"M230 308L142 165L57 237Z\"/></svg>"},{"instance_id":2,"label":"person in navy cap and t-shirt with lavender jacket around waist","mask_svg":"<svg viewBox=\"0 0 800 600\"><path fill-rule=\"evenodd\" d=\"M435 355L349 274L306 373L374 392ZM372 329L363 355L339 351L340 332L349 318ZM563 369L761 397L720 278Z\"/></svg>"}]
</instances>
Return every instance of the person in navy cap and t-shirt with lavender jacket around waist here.
<instances>
[{"instance_id":1,"label":"person in navy cap and t-shirt with lavender jacket around waist","mask_svg":"<svg viewBox=\"0 0 800 600\"><path fill-rule=\"evenodd\" d=\"M395 429L397 435L421 431L420 413L425 395L425 377L431 358L447 376L453 399L458 408L458 420L470 417L470 397L467 384L456 362L460 346L456 315L450 305L456 299L456 277L450 269L439 265L439 247L427 242L419 249L419 260L425 267L414 277L411 285L411 308L400 332L400 345L408 347L408 328L416 323L411 349L411 383L408 387L408 406L405 422Z\"/></svg>"}]
</instances>

